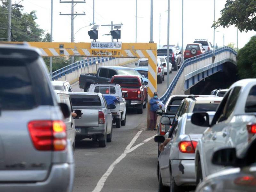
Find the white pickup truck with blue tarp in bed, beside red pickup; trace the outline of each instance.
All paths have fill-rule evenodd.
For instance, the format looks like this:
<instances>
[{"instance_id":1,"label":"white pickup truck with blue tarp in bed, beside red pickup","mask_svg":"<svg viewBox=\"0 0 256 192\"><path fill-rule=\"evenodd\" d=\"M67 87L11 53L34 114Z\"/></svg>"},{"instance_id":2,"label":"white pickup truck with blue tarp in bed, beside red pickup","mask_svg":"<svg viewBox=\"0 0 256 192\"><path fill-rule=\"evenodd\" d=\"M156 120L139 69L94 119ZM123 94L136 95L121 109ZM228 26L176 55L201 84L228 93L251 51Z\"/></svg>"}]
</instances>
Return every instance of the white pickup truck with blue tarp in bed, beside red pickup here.
<instances>
[{"instance_id":1,"label":"white pickup truck with blue tarp in bed, beside red pickup","mask_svg":"<svg viewBox=\"0 0 256 192\"><path fill-rule=\"evenodd\" d=\"M116 97L119 102L115 102L116 108L111 109L113 122L116 123L116 128L126 124L126 101L120 85L109 83L91 84L88 92L100 92L103 96L110 95Z\"/></svg>"}]
</instances>

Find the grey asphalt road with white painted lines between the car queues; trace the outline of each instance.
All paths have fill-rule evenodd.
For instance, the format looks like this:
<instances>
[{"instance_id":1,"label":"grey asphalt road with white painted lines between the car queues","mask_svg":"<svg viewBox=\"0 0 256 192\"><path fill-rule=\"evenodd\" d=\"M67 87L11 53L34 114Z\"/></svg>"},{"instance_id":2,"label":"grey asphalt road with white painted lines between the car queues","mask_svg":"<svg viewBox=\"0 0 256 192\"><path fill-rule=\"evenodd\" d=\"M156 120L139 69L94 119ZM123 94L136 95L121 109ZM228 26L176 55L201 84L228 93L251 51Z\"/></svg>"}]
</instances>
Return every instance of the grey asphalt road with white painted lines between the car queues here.
<instances>
[{"instance_id":1,"label":"grey asphalt road with white painted lines between the car queues","mask_svg":"<svg viewBox=\"0 0 256 192\"><path fill-rule=\"evenodd\" d=\"M134 63L127 67L135 67ZM170 74L170 83L177 72ZM166 80L167 76L165 76ZM166 81L157 84L159 95L166 90ZM83 91L78 84L73 91ZM143 114L129 109L126 126L113 129L112 142L106 148L85 139L76 142L74 192L156 192L156 131L146 131L147 109Z\"/></svg>"}]
</instances>

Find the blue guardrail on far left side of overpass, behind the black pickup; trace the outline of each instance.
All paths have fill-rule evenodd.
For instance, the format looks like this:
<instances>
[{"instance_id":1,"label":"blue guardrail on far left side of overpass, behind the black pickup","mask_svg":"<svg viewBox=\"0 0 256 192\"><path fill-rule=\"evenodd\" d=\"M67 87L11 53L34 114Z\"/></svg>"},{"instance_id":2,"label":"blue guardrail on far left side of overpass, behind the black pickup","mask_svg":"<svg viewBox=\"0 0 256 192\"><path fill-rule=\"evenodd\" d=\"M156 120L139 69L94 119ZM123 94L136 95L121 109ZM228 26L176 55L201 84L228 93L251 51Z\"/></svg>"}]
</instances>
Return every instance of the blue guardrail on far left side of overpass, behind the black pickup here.
<instances>
[{"instance_id":1,"label":"blue guardrail on far left side of overpass, behind the black pickup","mask_svg":"<svg viewBox=\"0 0 256 192\"><path fill-rule=\"evenodd\" d=\"M52 80L57 80L58 78L60 78L61 76L65 76L69 73L72 73L73 71L76 71L80 68L84 68L84 67L88 67L94 64L98 64L98 63L102 63L102 62L106 62L109 60L114 60L116 59L115 57L91 57L85 60L80 60L77 61L75 63L72 63L70 65L67 65L63 68L60 68L54 72L52 72Z\"/></svg>"}]
</instances>

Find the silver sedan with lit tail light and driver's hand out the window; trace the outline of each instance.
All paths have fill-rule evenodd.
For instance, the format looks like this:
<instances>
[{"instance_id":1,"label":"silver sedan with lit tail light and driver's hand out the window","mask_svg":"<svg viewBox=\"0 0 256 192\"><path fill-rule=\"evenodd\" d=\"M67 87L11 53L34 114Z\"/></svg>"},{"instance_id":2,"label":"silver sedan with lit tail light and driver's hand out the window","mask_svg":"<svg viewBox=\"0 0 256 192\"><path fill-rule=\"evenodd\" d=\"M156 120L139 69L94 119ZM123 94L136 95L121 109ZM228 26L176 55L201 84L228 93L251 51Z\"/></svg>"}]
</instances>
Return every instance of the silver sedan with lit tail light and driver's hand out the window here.
<instances>
[{"instance_id":1,"label":"silver sedan with lit tail light and driver's hand out the window","mask_svg":"<svg viewBox=\"0 0 256 192\"><path fill-rule=\"evenodd\" d=\"M210 120L215 112L208 112ZM195 149L197 141L202 137L206 128L191 123L192 113L185 113L178 119L171 140L158 157L159 191L179 192L184 186L196 186ZM170 117L162 117L161 124L170 125ZM168 134L168 133L167 133ZM164 141L163 136L156 136L158 141Z\"/></svg>"}]
</instances>

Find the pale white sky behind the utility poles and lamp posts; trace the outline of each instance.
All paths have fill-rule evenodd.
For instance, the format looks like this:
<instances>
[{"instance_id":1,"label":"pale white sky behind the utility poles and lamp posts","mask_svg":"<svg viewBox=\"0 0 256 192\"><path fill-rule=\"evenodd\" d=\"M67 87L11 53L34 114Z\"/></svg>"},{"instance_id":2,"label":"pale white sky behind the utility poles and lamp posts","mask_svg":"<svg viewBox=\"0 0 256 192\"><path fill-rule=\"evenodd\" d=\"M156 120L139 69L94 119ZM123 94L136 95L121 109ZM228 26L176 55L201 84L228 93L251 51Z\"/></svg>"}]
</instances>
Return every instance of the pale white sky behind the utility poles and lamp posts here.
<instances>
[{"instance_id":1,"label":"pale white sky behind the utility poles and lamp posts","mask_svg":"<svg viewBox=\"0 0 256 192\"><path fill-rule=\"evenodd\" d=\"M15 2L15 0L12 0ZM19 2L20 0L16 0ZM64 0L62 0L64 1ZM66 1L66 0L65 0ZM84 1L84 0L79 0ZM226 0L216 0L215 20L220 17L220 11L224 8ZM50 32L51 29L51 0L23 0L24 12L36 11L37 23L40 28ZM74 11L85 12L85 16L77 16L74 20L75 42L91 42L88 31L92 28L84 26L92 23L93 0L76 4ZM125 43L135 42L135 13L136 0L95 0L95 23L97 25L124 24L121 28L121 39ZM153 4L153 41L159 47L159 29L161 29L161 46L167 44L167 0L154 0ZM170 0L170 44L179 43L181 47L181 0ZM53 42L70 42L71 17L60 16L61 13L71 13L71 4L60 3L53 0ZM159 14L161 13L161 25L159 26ZM208 39L213 44L214 0L184 0L184 47L193 43L195 39ZM82 29L80 29L82 28ZM79 30L80 29L80 30ZM79 30L79 31L78 31ZM103 36L110 33L110 27L99 27L100 42L110 42L111 36ZM217 28L215 43L223 46L223 34L225 45L235 43L237 29ZM78 32L77 32L78 31ZM77 33L76 33L77 32ZM250 37L256 35L254 31L238 32L238 47L242 48ZM137 0L137 42L150 41L150 0Z\"/></svg>"}]
</instances>

